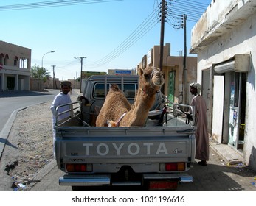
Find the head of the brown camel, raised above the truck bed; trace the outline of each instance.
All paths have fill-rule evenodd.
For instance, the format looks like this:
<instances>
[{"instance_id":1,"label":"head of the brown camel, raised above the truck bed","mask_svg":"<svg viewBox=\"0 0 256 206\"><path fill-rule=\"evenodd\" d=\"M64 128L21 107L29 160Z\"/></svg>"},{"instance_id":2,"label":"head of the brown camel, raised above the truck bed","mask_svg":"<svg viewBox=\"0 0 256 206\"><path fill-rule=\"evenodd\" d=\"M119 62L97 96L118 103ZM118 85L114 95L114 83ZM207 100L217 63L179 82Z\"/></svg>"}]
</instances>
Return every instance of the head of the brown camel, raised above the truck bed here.
<instances>
[{"instance_id":1,"label":"head of the brown camel, raised above the truck bed","mask_svg":"<svg viewBox=\"0 0 256 206\"><path fill-rule=\"evenodd\" d=\"M162 71L159 68L148 66L145 69L139 69L139 88L148 96L158 92L165 83Z\"/></svg>"}]
</instances>

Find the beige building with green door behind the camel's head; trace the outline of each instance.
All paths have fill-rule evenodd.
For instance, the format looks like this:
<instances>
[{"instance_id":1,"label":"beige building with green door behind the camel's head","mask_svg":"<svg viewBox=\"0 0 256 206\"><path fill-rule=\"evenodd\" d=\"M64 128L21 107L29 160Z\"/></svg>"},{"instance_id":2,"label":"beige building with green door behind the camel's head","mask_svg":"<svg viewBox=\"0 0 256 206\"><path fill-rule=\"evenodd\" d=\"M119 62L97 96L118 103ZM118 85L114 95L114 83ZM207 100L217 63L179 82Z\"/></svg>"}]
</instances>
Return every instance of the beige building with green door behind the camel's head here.
<instances>
[{"instance_id":1,"label":"beige building with green door behind the camel's head","mask_svg":"<svg viewBox=\"0 0 256 206\"><path fill-rule=\"evenodd\" d=\"M153 46L148 54L142 57L138 68L147 65L159 68L160 46ZM190 104L190 83L197 79L197 57L186 57L184 68L184 57L170 56L170 43L166 43L163 52L162 72L165 75L164 92L170 102Z\"/></svg>"}]
</instances>

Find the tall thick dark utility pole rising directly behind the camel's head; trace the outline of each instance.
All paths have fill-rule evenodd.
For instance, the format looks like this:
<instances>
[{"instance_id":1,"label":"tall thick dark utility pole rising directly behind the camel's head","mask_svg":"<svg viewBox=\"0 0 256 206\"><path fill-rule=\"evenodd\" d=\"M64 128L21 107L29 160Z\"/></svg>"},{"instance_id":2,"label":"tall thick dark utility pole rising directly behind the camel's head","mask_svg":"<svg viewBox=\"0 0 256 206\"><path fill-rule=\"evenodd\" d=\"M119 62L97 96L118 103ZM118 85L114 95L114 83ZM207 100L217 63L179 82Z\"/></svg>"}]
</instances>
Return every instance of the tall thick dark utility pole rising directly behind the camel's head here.
<instances>
[{"instance_id":1,"label":"tall thick dark utility pole rising directly behind the camel's head","mask_svg":"<svg viewBox=\"0 0 256 206\"><path fill-rule=\"evenodd\" d=\"M165 0L162 0L161 7L161 35L160 35L160 52L159 52L159 69L162 71L162 61L164 54L164 37L165 37Z\"/></svg>"}]
</instances>

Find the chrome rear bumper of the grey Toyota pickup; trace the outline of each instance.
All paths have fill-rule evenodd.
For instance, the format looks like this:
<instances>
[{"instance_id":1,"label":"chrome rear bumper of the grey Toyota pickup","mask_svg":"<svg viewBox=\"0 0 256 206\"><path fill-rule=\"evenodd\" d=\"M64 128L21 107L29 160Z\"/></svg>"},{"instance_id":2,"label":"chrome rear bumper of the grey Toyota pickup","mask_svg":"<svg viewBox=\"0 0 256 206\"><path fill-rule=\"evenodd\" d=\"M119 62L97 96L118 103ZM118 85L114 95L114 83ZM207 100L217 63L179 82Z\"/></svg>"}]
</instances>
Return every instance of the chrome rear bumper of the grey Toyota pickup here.
<instances>
[{"instance_id":1,"label":"chrome rear bumper of the grey Toyota pickup","mask_svg":"<svg viewBox=\"0 0 256 206\"><path fill-rule=\"evenodd\" d=\"M143 174L145 181L151 180L176 180L178 182L193 182L193 177L187 174ZM66 174L59 179L59 185L70 186L111 186L111 185L142 185L144 181L136 182L111 182L110 174L96 174L96 175L70 175Z\"/></svg>"}]
</instances>

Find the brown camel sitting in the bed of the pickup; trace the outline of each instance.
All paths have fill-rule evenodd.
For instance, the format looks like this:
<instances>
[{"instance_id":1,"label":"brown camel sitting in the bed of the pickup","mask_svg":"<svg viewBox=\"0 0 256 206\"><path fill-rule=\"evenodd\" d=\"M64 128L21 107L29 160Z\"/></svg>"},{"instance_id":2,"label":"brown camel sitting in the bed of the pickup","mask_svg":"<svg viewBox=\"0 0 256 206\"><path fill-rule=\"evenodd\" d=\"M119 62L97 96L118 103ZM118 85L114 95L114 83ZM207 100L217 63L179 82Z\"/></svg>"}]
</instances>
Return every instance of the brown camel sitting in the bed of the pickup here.
<instances>
[{"instance_id":1,"label":"brown camel sitting in the bed of the pickup","mask_svg":"<svg viewBox=\"0 0 256 206\"><path fill-rule=\"evenodd\" d=\"M148 66L139 69L139 89L130 104L117 85L111 85L103 107L96 119L96 127L142 127L153 106L156 93L165 83L159 68Z\"/></svg>"}]
</instances>

